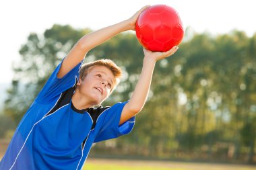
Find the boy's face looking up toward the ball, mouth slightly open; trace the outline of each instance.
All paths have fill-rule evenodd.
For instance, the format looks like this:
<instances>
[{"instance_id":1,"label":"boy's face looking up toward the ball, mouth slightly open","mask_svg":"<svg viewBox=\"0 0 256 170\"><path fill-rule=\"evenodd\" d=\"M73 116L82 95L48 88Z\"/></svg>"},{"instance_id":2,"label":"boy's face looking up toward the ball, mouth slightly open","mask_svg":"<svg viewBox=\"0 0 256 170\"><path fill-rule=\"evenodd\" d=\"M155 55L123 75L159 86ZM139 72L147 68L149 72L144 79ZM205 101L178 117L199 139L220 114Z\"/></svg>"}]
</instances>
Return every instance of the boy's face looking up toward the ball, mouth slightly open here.
<instances>
[{"instance_id":1,"label":"boy's face looking up toward the ball, mouth slightly open","mask_svg":"<svg viewBox=\"0 0 256 170\"><path fill-rule=\"evenodd\" d=\"M108 97L113 89L115 76L104 66L95 66L84 78L77 83L81 93L90 103L98 105Z\"/></svg>"}]
</instances>

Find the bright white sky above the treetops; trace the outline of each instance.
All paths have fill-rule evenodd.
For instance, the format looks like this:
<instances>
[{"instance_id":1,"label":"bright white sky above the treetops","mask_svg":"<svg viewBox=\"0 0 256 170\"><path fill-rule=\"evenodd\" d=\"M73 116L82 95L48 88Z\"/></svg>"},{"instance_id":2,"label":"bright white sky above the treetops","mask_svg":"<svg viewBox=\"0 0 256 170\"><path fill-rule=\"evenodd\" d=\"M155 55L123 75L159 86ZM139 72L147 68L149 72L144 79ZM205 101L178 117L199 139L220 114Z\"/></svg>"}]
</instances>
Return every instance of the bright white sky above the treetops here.
<instances>
[{"instance_id":1,"label":"bright white sky above the treetops","mask_svg":"<svg viewBox=\"0 0 256 170\"><path fill-rule=\"evenodd\" d=\"M256 33L254 0L8 0L0 2L0 83L11 83L11 65L31 32L53 24L98 30L128 19L144 5L164 4L179 12L185 28L213 35L232 30ZM180 49L181 50L181 49Z\"/></svg>"}]
</instances>

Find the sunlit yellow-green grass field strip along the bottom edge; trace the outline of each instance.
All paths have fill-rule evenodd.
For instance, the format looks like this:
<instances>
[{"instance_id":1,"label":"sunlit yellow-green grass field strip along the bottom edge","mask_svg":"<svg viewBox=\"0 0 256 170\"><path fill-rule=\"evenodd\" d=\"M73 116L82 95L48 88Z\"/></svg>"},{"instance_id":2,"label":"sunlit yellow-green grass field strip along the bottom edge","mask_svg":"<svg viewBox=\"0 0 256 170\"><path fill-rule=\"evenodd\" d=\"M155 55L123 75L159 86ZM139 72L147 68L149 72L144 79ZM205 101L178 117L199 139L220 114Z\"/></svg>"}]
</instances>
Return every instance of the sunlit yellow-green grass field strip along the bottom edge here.
<instances>
[{"instance_id":1,"label":"sunlit yellow-green grass field strip along the bottom edge","mask_svg":"<svg viewBox=\"0 0 256 170\"><path fill-rule=\"evenodd\" d=\"M83 170L256 170L256 166L171 161L88 159Z\"/></svg>"}]
</instances>

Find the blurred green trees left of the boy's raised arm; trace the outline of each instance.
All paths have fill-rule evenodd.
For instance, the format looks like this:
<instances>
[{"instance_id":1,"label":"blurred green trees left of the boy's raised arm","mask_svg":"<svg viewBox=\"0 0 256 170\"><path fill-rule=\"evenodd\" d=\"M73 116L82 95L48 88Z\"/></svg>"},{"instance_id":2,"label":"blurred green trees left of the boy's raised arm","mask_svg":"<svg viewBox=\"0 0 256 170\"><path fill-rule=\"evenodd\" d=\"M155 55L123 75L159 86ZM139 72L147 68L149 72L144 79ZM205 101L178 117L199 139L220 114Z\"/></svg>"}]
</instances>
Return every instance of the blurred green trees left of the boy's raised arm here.
<instances>
[{"instance_id":1,"label":"blurred green trees left of the boy's raised arm","mask_svg":"<svg viewBox=\"0 0 256 170\"><path fill-rule=\"evenodd\" d=\"M20 48L21 60L13 65L14 78L8 89L5 113L20 122L55 67L74 43L90 30L54 25L44 35L31 33Z\"/></svg>"}]
</instances>

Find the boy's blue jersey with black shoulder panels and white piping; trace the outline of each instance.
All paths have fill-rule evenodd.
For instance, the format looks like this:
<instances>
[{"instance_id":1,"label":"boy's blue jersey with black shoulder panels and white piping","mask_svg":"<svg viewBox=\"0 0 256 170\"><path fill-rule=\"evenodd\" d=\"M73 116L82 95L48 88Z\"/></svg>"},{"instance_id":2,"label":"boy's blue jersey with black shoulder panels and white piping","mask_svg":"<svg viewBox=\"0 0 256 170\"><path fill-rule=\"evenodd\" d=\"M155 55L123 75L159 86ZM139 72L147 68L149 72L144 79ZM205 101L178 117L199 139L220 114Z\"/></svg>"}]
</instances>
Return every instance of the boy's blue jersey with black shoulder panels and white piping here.
<instances>
[{"instance_id":1,"label":"boy's blue jersey with black shoulder panels and white piping","mask_svg":"<svg viewBox=\"0 0 256 170\"><path fill-rule=\"evenodd\" d=\"M59 79L61 63L15 130L0 162L1 170L82 169L94 142L131 132L135 117L119 126L127 101L77 110L71 97L82 62Z\"/></svg>"}]
</instances>

